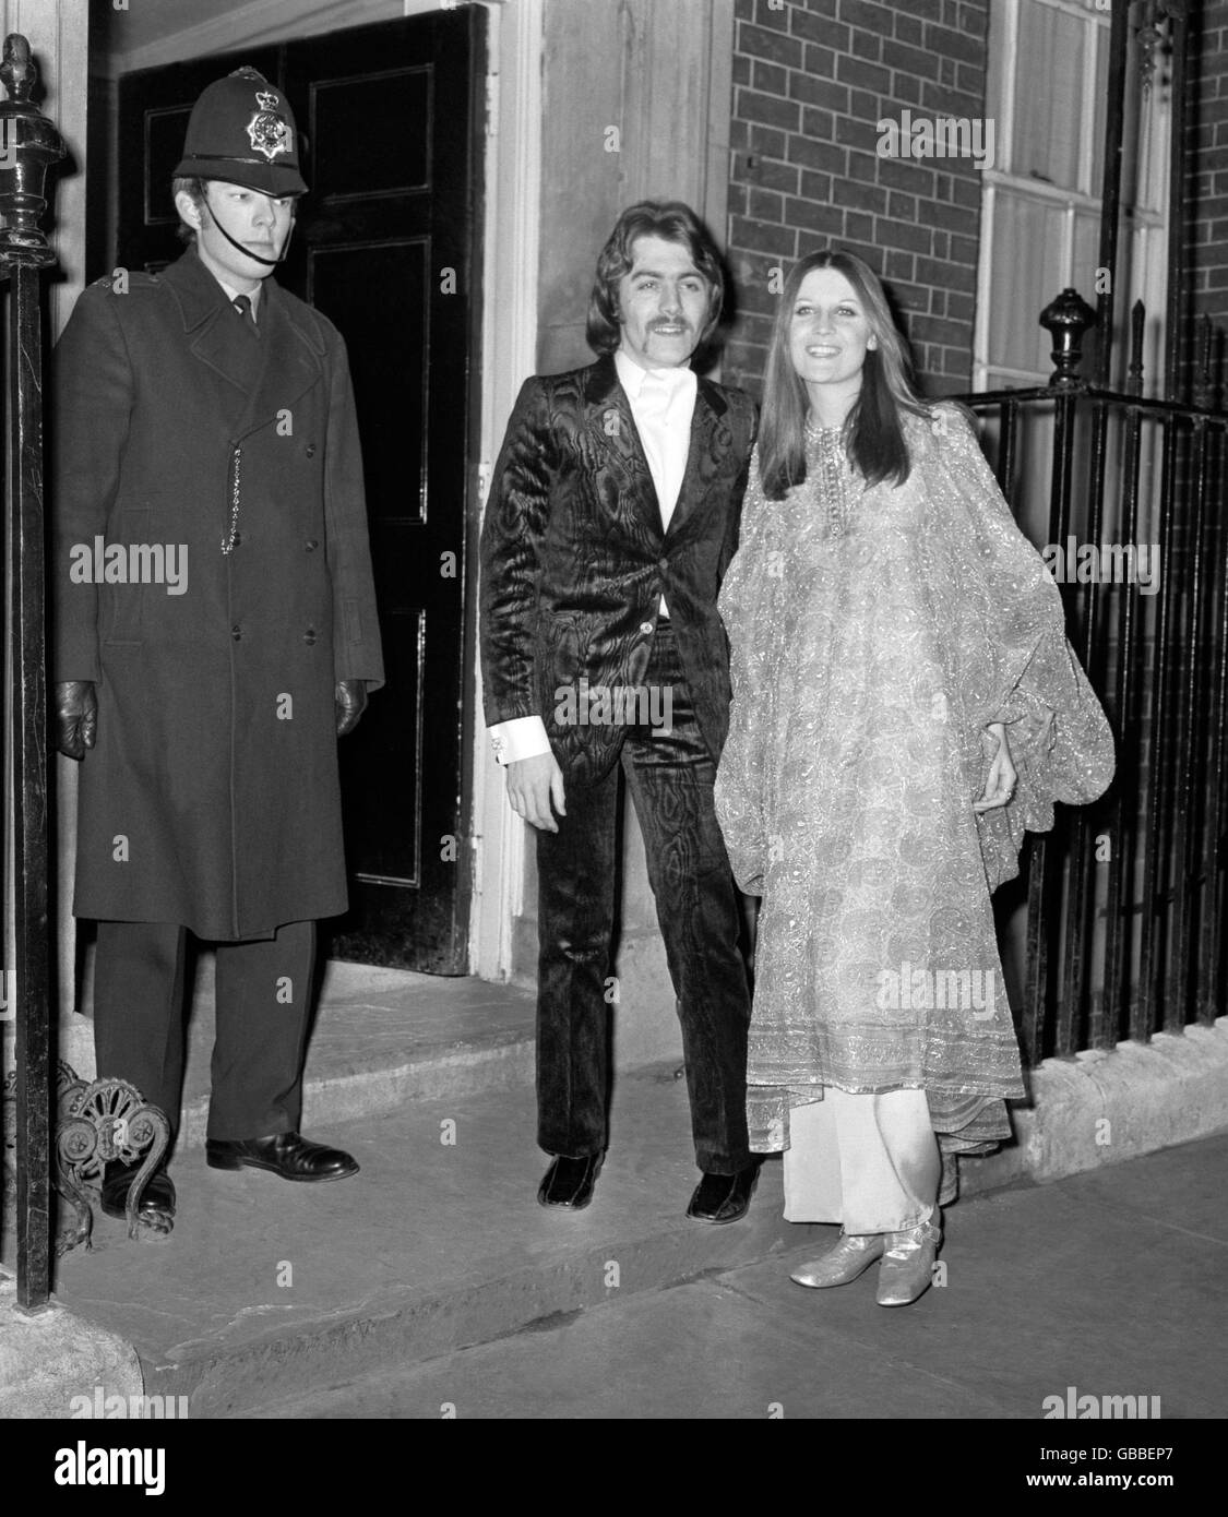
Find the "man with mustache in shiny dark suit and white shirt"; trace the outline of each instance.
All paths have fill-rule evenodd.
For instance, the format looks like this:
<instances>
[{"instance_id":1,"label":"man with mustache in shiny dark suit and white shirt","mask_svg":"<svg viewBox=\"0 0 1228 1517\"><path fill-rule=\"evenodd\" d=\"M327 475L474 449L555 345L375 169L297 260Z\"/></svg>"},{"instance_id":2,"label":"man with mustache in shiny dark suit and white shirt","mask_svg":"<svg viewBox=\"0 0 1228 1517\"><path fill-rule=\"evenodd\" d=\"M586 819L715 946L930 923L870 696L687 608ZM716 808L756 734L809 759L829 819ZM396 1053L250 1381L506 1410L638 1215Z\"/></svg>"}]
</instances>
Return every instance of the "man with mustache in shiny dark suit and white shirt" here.
<instances>
[{"instance_id":1,"label":"man with mustache in shiny dark suit and white shirt","mask_svg":"<svg viewBox=\"0 0 1228 1517\"><path fill-rule=\"evenodd\" d=\"M607 1145L619 769L682 1021L703 1171L688 1215L736 1221L757 1176L739 909L712 804L730 699L716 592L756 417L745 394L691 369L723 300L719 255L694 211L624 211L589 300L601 356L525 382L486 505L486 719L537 843L543 1206L587 1206ZM634 699L654 692L669 699ZM653 725L651 710L666 722Z\"/></svg>"}]
</instances>

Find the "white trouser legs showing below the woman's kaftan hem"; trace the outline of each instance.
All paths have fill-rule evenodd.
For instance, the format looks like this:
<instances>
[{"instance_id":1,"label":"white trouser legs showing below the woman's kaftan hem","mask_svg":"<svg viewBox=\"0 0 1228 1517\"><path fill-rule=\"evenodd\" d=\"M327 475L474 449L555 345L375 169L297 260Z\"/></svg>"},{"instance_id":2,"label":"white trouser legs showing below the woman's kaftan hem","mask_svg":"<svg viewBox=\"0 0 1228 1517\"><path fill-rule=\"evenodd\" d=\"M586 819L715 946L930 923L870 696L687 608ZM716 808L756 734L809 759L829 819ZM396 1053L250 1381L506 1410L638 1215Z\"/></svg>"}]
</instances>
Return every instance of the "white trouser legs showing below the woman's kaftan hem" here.
<instances>
[{"instance_id":1,"label":"white trouser legs showing below the woman's kaftan hem","mask_svg":"<svg viewBox=\"0 0 1228 1517\"><path fill-rule=\"evenodd\" d=\"M943 1164L924 1091L852 1094L789 1112L785 1220L847 1233L903 1232L932 1214Z\"/></svg>"}]
</instances>

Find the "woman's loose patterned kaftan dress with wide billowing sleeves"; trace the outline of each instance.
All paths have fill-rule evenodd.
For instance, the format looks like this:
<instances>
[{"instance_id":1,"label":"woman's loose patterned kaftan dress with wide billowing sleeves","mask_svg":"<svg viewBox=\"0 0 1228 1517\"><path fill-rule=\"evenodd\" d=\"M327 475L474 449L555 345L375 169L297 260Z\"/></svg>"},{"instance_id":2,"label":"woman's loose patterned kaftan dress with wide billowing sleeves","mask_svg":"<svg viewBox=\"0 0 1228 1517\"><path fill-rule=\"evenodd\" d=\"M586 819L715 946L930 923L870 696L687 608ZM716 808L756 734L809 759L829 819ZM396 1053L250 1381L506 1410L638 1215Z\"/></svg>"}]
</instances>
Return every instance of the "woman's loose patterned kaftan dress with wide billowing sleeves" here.
<instances>
[{"instance_id":1,"label":"woman's loose patterned kaftan dress with wide billowing sleeves","mask_svg":"<svg viewBox=\"0 0 1228 1517\"><path fill-rule=\"evenodd\" d=\"M768 501L757 455L719 610L733 707L716 815L762 897L750 1027L751 1147L789 1106L924 1089L944 1153L1009 1135L1025 1094L990 894L1025 830L1113 777L1113 737L1040 554L964 413L908 414L912 470L864 488L839 434ZM1012 799L976 813L990 722Z\"/></svg>"}]
</instances>

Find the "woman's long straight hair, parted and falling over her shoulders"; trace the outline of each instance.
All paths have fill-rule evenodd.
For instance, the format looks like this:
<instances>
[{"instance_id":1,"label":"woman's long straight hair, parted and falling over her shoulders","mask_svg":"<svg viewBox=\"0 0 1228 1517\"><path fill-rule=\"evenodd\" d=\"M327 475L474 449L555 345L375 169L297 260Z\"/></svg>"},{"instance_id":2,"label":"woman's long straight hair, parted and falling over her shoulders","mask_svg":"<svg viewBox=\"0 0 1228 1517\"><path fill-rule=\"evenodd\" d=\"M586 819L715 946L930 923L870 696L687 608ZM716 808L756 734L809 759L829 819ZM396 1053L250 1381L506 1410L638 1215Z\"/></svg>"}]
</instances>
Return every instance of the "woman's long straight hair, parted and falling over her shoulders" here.
<instances>
[{"instance_id":1,"label":"woman's long straight hair, parted and falling over her shoulders","mask_svg":"<svg viewBox=\"0 0 1228 1517\"><path fill-rule=\"evenodd\" d=\"M912 461L902 413L929 416L909 378L908 350L891 320L879 276L856 253L809 253L794 264L785 281L771 334L759 428L759 478L770 501L782 499L786 490L806 478L806 416L811 402L789 356L789 326L801 281L815 269L833 269L844 275L861 302L871 335L877 338L877 346L865 352L861 394L844 423L849 458L867 485L880 479L899 485L908 479Z\"/></svg>"}]
</instances>

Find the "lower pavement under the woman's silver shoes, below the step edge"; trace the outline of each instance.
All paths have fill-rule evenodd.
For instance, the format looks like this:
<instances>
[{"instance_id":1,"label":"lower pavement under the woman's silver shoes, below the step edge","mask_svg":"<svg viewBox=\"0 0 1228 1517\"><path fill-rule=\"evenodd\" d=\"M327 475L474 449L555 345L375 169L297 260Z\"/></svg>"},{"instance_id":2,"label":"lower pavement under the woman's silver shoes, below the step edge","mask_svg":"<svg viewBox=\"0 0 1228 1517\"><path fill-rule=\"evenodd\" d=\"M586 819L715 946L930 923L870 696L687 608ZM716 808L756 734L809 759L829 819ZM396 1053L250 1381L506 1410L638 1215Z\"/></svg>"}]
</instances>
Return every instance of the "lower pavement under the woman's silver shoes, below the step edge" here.
<instances>
[{"instance_id":1,"label":"lower pavement under the woman's silver shoes, below the step edge","mask_svg":"<svg viewBox=\"0 0 1228 1517\"><path fill-rule=\"evenodd\" d=\"M909 1308L873 1268L798 1288L808 1244L253 1415L1035 1420L1075 1387L1222 1417L1225 1157L1220 1135L953 1208L946 1285Z\"/></svg>"}]
</instances>

